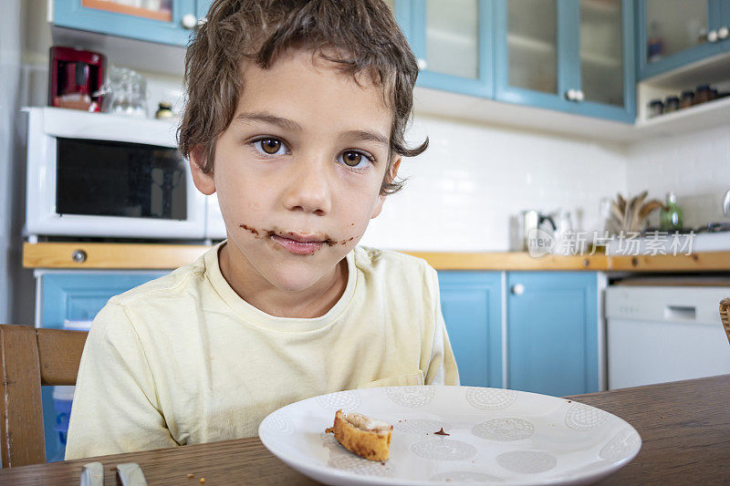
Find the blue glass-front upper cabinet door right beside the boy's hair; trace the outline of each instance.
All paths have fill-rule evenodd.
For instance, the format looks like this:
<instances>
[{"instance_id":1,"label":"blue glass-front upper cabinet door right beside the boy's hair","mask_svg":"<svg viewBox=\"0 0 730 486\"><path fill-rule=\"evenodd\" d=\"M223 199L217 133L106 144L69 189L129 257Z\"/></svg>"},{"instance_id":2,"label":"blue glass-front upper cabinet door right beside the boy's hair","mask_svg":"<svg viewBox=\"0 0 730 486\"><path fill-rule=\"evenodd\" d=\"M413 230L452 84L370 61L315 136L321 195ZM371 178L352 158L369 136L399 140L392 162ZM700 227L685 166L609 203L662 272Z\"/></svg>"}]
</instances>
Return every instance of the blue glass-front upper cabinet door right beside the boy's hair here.
<instances>
[{"instance_id":1,"label":"blue glass-front upper cabinet door right beside the boy's hair","mask_svg":"<svg viewBox=\"0 0 730 486\"><path fill-rule=\"evenodd\" d=\"M418 86L491 98L491 0L391 0L413 53Z\"/></svg>"}]
</instances>

